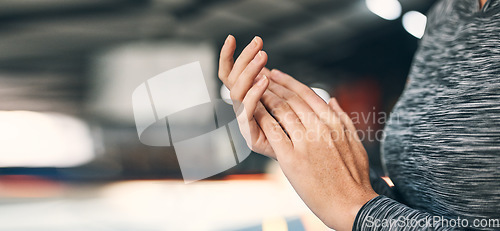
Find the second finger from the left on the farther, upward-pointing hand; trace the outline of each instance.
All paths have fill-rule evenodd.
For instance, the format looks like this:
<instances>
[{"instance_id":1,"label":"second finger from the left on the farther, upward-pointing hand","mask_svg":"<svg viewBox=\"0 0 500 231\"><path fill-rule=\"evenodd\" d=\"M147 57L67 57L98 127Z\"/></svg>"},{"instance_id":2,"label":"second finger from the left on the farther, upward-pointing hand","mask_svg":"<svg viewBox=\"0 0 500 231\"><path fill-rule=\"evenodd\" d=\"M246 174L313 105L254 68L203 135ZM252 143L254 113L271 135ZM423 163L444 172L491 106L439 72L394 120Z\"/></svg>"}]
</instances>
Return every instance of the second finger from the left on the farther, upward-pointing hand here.
<instances>
[{"instance_id":1,"label":"second finger from the left on the farther, upward-pointing hand","mask_svg":"<svg viewBox=\"0 0 500 231\"><path fill-rule=\"evenodd\" d=\"M245 49L243 49L238 59L236 59L236 61L234 62L233 68L227 80L228 84L231 87L237 81L238 76L241 75L243 70L245 70L248 64L254 59L255 55L257 55L257 53L262 49L262 46L262 39L258 36L255 36L255 38L253 38L253 40L245 47Z\"/></svg>"}]
</instances>

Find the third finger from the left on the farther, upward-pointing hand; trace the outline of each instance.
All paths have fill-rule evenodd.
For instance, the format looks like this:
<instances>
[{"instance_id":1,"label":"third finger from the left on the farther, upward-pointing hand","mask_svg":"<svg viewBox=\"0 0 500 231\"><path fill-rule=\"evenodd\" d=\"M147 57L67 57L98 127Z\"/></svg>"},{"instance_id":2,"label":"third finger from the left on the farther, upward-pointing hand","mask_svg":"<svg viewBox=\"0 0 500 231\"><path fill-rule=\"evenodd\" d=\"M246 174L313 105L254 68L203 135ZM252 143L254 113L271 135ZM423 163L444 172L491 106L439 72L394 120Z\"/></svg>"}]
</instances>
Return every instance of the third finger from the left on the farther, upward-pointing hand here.
<instances>
[{"instance_id":1,"label":"third finger from the left on the farther, upward-pointing hand","mask_svg":"<svg viewBox=\"0 0 500 231\"><path fill-rule=\"evenodd\" d=\"M266 62L266 52L259 51L234 83L231 89L232 100L239 102L243 100L248 90L252 87L255 77L261 72Z\"/></svg>"}]
</instances>

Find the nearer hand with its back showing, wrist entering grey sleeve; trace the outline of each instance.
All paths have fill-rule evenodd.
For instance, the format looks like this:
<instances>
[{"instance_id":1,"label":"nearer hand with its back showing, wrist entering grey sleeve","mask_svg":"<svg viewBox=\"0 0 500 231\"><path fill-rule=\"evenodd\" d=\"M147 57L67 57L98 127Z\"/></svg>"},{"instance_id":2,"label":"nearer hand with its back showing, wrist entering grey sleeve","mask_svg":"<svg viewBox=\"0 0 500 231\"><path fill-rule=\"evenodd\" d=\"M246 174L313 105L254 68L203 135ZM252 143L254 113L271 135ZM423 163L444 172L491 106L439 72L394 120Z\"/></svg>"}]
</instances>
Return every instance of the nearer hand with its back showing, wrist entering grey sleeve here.
<instances>
[{"instance_id":1,"label":"nearer hand with its back showing, wrist entering grey sleeve","mask_svg":"<svg viewBox=\"0 0 500 231\"><path fill-rule=\"evenodd\" d=\"M281 169L326 225L352 230L359 209L377 196L370 185L368 157L352 121L335 99L327 105L291 76L273 70L271 80L261 101L286 134L274 127L262 130Z\"/></svg>"}]
</instances>

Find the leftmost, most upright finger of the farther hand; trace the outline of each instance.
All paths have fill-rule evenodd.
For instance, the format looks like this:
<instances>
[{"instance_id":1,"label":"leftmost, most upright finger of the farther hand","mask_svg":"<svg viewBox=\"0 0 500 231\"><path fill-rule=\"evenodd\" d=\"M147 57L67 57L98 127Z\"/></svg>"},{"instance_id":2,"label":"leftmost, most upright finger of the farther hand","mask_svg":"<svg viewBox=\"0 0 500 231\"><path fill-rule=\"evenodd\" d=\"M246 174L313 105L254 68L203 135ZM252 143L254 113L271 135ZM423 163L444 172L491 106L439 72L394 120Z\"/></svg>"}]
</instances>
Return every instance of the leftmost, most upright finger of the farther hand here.
<instances>
[{"instance_id":1,"label":"leftmost, most upright finger of the farther hand","mask_svg":"<svg viewBox=\"0 0 500 231\"><path fill-rule=\"evenodd\" d=\"M228 35L222 49L220 51L219 58L219 79L230 88L228 84L229 73L233 69L234 60L234 50L236 49L236 39L232 35Z\"/></svg>"}]
</instances>

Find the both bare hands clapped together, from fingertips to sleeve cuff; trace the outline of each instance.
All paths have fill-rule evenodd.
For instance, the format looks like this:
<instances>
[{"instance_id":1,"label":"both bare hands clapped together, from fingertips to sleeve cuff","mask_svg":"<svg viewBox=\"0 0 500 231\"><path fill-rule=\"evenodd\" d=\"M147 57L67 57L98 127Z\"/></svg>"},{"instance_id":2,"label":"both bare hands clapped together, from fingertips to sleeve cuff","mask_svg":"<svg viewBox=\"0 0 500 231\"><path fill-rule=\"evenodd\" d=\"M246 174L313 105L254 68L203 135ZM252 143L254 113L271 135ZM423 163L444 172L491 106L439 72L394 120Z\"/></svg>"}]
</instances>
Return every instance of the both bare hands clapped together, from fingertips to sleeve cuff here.
<instances>
[{"instance_id":1,"label":"both bare hands clapped together, from fingertips to sleeve cuff","mask_svg":"<svg viewBox=\"0 0 500 231\"><path fill-rule=\"evenodd\" d=\"M327 104L293 77L265 68L255 37L233 60L236 41L221 49L219 78L230 89L249 147L276 159L296 192L329 227L351 230L361 206L377 196L366 151L335 99Z\"/></svg>"}]
</instances>

